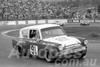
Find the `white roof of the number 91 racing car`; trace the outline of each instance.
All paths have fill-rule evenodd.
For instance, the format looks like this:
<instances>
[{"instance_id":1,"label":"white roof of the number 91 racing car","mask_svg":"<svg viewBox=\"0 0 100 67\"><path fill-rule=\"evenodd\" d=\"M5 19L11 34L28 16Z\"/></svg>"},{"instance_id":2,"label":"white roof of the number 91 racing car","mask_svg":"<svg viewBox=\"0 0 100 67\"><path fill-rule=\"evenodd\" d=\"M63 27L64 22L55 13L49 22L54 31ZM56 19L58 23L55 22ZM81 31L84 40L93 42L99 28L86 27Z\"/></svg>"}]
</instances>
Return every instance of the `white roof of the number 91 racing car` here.
<instances>
[{"instance_id":1,"label":"white roof of the number 91 racing car","mask_svg":"<svg viewBox=\"0 0 100 67\"><path fill-rule=\"evenodd\" d=\"M24 27L24 28L22 28L20 30L24 30L24 29L40 30L40 29L49 28L49 27L55 27L55 26L59 26L59 25L57 25L57 24L41 24L41 25L34 25L34 26Z\"/></svg>"}]
</instances>

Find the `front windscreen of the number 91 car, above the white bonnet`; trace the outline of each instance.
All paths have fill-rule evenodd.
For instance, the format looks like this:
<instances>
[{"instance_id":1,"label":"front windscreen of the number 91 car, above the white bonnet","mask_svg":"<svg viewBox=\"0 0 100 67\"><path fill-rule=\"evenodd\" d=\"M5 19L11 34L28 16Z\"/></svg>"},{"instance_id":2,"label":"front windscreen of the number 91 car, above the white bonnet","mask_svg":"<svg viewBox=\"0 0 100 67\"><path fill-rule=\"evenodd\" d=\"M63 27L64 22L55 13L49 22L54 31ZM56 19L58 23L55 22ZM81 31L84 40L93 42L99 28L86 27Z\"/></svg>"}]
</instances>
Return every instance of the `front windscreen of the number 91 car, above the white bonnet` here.
<instances>
[{"instance_id":1,"label":"front windscreen of the number 91 car, above the white bonnet","mask_svg":"<svg viewBox=\"0 0 100 67\"><path fill-rule=\"evenodd\" d=\"M42 38L50 38L55 36L65 35L65 32L62 30L61 27L50 27L41 30Z\"/></svg>"}]
</instances>

